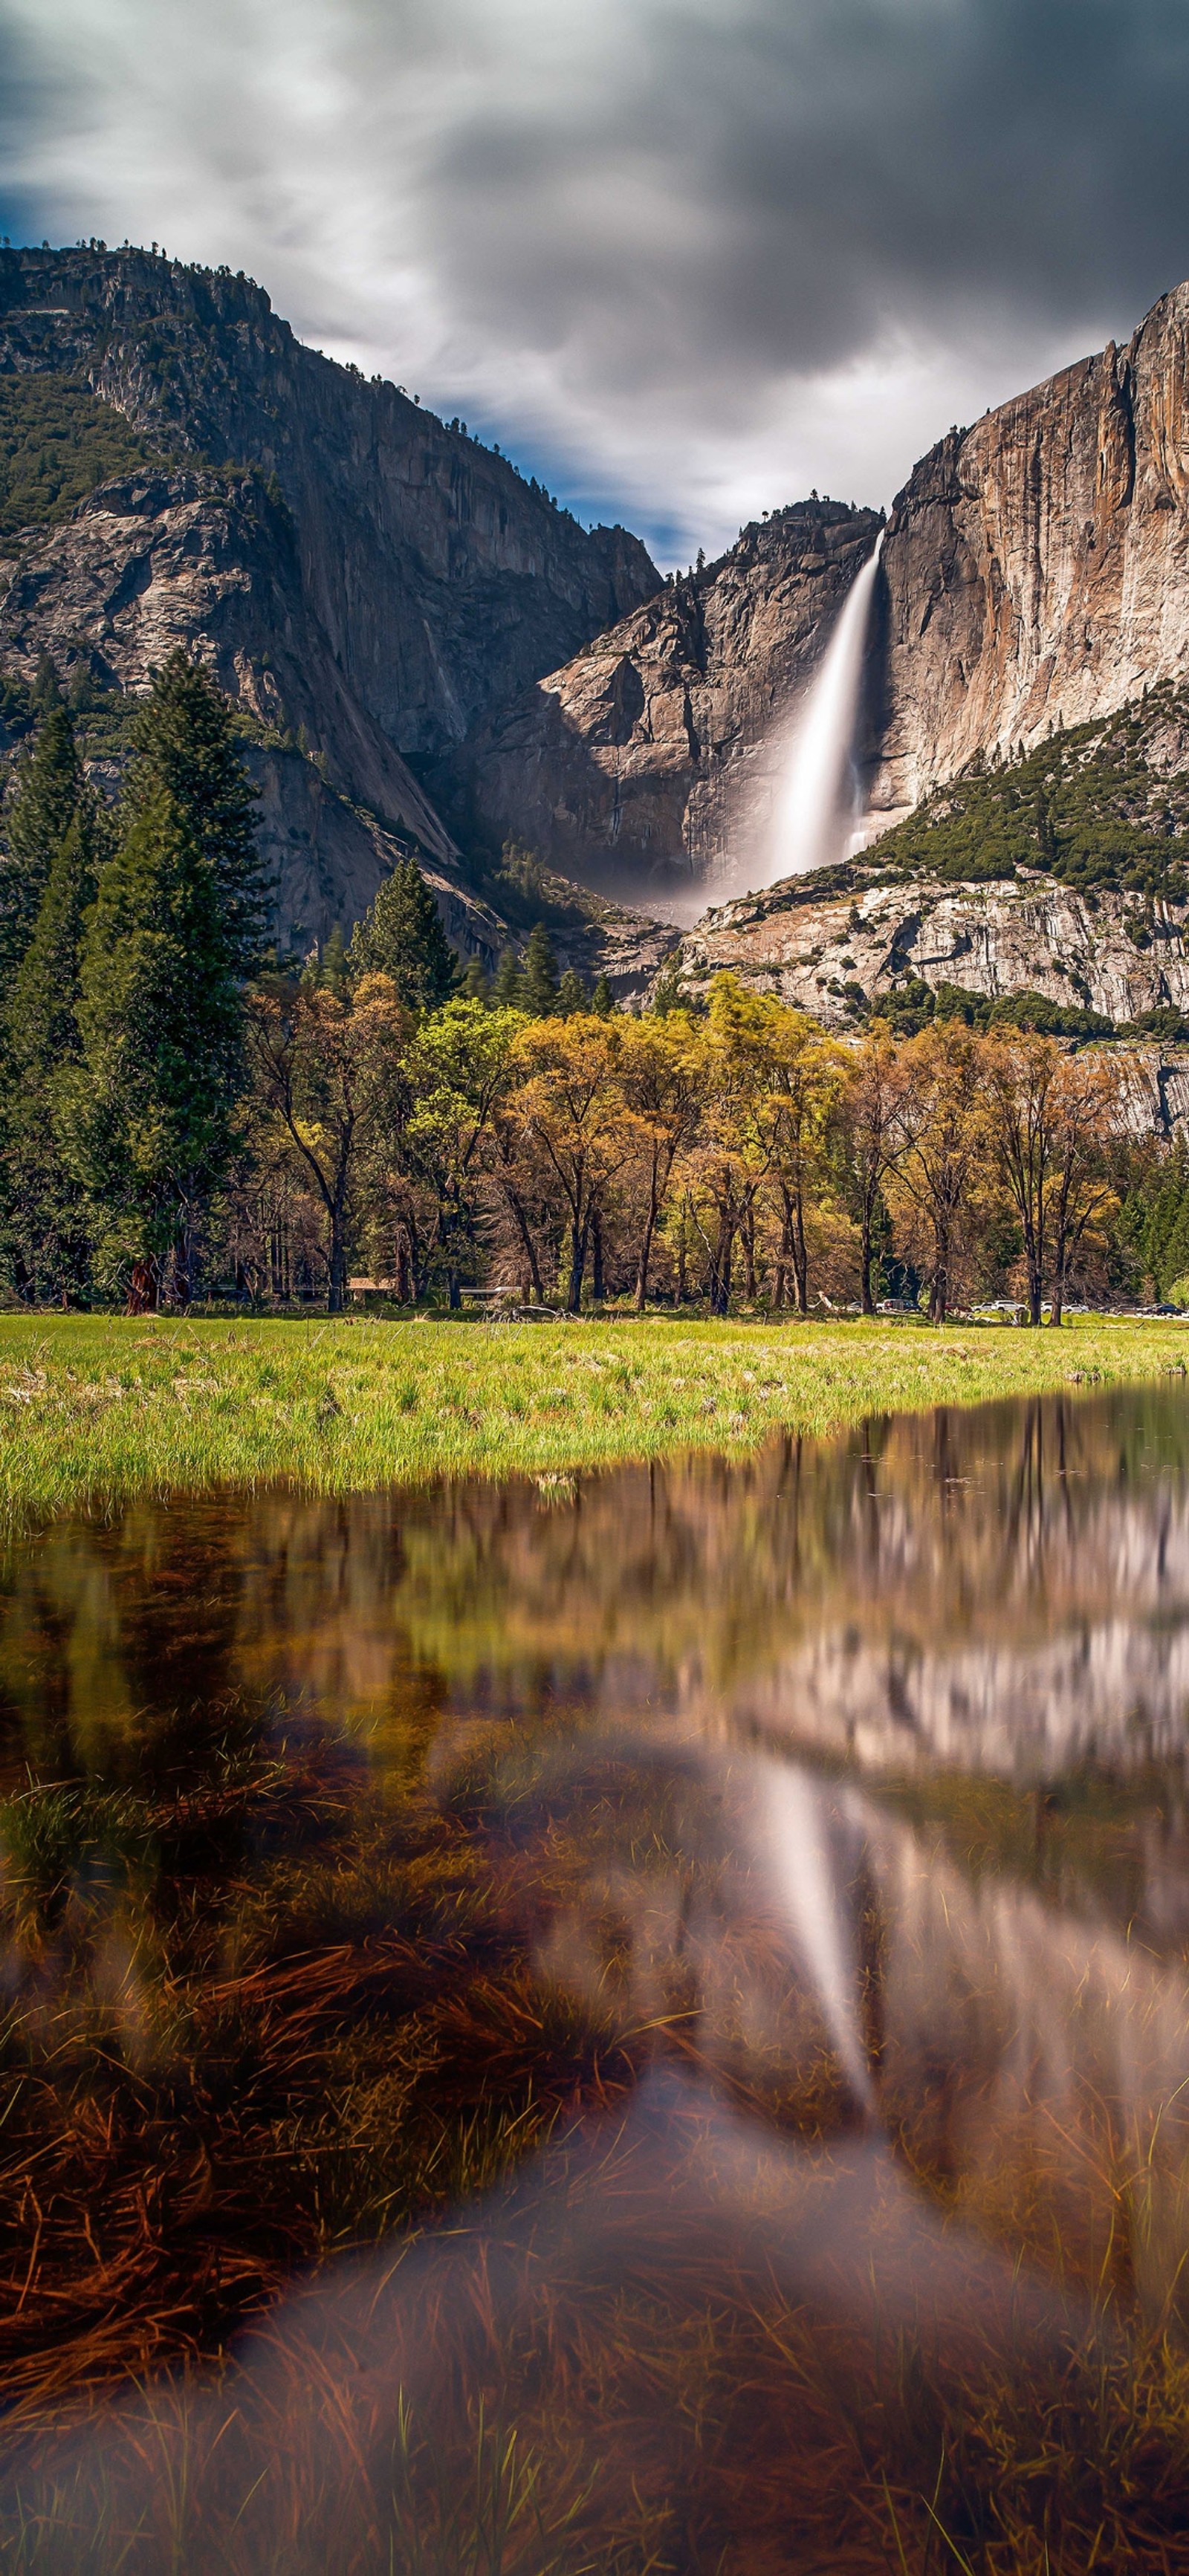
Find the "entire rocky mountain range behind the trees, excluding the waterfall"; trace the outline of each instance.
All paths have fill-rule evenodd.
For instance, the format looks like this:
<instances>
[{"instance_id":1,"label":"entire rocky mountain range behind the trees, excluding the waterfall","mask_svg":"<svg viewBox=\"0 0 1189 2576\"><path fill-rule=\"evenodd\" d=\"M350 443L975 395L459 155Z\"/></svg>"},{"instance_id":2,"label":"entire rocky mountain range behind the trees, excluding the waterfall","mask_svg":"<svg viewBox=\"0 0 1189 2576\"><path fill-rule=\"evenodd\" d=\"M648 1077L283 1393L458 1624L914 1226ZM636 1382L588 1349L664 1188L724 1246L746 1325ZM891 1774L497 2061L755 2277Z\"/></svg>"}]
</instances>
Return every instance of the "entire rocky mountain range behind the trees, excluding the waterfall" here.
<instances>
[{"instance_id":1,"label":"entire rocky mountain range behind the trees, excluding the waterfall","mask_svg":"<svg viewBox=\"0 0 1189 2576\"><path fill-rule=\"evenodd\" d=\"M694 987L730 963L836 1025L941 984L1189 1018L1186 335L1189 286L913 471L854 739L892 829L720 902L678 951ZM0 252L8 742L49 652L113 770L129 693L199 647L286 938L348 925L413 848L459 945L493 956L542 912L562 958L642 994L676 933L624 902L712 902L758 848L879 528L797 502L660 582L462 422L302 348L250 281ZM500 871L508 835L531 884Z\"/></svg>"}]
</instances>

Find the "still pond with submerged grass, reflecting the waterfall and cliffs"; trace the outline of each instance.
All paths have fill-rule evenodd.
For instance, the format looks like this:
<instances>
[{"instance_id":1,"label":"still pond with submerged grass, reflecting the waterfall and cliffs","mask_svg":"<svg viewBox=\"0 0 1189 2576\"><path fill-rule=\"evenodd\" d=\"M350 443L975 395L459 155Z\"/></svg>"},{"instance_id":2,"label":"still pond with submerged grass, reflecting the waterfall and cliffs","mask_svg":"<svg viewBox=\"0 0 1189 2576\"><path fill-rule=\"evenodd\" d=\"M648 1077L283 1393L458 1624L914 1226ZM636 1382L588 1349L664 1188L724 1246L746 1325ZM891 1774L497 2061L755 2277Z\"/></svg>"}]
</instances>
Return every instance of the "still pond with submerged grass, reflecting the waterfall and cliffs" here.
<instances>
[{"instance_id":1,"label":"still pond with submerged grass, reflecting the waterfall and cliffs","mask_svg":"<svg viewBox=\"0 0 1189 2576\"><path fill-rule=\"evenodd\" d=\"M1189 1399L8 1543L5 2568L1174 2568Z\"/></svg>"}]
</instances>

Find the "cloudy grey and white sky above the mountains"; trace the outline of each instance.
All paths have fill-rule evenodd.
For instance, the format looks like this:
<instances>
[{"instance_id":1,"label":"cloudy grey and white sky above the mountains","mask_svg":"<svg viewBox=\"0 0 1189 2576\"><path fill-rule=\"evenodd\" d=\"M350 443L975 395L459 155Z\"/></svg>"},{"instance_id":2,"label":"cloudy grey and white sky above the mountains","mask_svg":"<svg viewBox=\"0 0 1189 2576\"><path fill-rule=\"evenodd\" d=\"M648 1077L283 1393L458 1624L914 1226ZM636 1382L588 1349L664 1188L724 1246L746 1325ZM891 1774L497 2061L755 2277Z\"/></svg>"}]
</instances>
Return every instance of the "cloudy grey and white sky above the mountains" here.
<instances>
[{"instance_id":1,"label":"cloudy grey and white sky above the mountains","mask_svg":"<svg viewBox=\"0 0 1189 2576\"><path fill-rule=\"evenodd\" d=\"M0 0L0 232L245 268L663 567L1189 276L1189 0Z\"/></svg>"}]
</instances>

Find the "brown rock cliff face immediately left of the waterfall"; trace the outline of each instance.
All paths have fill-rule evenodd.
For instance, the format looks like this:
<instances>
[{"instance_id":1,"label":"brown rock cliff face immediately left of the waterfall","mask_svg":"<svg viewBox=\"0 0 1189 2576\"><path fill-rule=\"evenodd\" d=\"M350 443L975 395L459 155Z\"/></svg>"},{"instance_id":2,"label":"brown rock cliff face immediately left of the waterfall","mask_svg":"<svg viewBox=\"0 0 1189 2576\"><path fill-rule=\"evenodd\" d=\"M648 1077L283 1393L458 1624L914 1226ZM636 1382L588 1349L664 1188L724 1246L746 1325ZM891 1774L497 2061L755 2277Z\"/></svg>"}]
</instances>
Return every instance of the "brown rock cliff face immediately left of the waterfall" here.
<instances>
[{"instance_id":1,"label":"brown rock cliff face immediately left of the waterfall","mask_svg":"<svg viewBox=\"0 0 1189 2576\"><path fill-rule=\"evenodd\" d=\"M552 670L475 742L475 804L555 868L647 902L753 848L781 726L879 531L800 502Z\"/></svg>"}]
</instances>

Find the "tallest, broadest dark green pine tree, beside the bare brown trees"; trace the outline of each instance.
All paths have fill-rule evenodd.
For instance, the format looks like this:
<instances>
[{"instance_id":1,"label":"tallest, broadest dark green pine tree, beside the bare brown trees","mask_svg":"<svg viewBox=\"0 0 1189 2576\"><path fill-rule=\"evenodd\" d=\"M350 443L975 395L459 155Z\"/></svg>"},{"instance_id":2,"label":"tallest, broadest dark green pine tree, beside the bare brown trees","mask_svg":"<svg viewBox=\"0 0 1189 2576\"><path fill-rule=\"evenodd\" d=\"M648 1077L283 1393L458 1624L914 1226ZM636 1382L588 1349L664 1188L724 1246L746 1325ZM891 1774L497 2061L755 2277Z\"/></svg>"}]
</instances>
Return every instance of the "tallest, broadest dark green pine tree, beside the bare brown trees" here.
<instances>
[{"instance_id":1,"label":"tallest, broadest dark green pine tree, beside the bare brown trees","mask_svg":"<svg viewBox=\"0 0 1189 2576\"><path fill-rule=\"evenodd\" d=\"M64 1133L108 1273L191 1291L196 1236L235 1151L240 976L263 889L227 701L173 654L137 719L119 845L83 940L83 1064Z\"/></svg>"}]
</instances>

